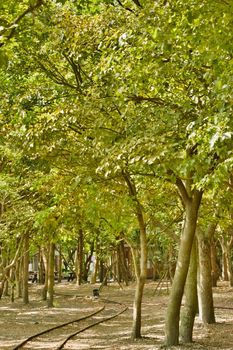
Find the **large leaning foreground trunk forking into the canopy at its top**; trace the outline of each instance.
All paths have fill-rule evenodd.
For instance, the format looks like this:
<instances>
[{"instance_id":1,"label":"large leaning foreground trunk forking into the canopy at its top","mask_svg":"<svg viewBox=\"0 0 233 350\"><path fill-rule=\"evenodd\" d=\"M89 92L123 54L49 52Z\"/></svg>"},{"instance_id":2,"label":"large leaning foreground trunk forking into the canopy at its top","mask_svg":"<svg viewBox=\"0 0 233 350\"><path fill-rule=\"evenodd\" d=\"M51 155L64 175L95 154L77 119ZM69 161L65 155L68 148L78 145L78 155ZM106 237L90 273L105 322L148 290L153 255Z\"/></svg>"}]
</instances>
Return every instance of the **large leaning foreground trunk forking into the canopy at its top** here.
<instances>
[{"instance_id":1,"label":"large leaning foreground trunk forking into the canopy at its top","mask_svg":"<svg viewBox=\"0 0 233 350\"><path fill-rule=\"evenodd\" d=\"M185 205L186 215L180 241L178 261L166 313L165 342L167 346L179 344L180 308L189 269L193 238L196 231L198 209L202 197L202 193L198 190L193 190L191 195L188 194L184 183L179 179L177 180L177 186Z\"/></svg>"}]
</instances>

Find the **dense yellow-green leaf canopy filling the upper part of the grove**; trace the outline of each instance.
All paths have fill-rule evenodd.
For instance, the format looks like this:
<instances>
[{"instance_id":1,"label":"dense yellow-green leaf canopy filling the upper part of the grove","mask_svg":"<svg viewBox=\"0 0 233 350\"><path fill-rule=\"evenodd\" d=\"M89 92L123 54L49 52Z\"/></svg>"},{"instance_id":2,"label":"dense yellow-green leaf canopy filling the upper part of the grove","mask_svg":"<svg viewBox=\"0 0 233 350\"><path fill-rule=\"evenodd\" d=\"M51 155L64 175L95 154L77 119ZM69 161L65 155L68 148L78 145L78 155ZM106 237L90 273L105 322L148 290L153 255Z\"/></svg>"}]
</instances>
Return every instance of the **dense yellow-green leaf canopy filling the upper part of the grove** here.
<instances>
[{"instance_id":1,"label":"dense yellow-green leaf canopy filling the upper part of the grove","mask_svg":"<svg viewBox=\"0 0 233 350\"><path fill-rule=\"evenodd\" d=\"M80 227L86 242L99 239L103 248L122 233L136 240L128 172L151 244L166 250L181 230L176 179L191 179L213 201L225 187L233 159L232 5L121 3L46 1L16 27L37 2L0 5L8 233L25 212L21 226L35 242L51 233L74 244Z\"/></svg>"}]
</instances>

